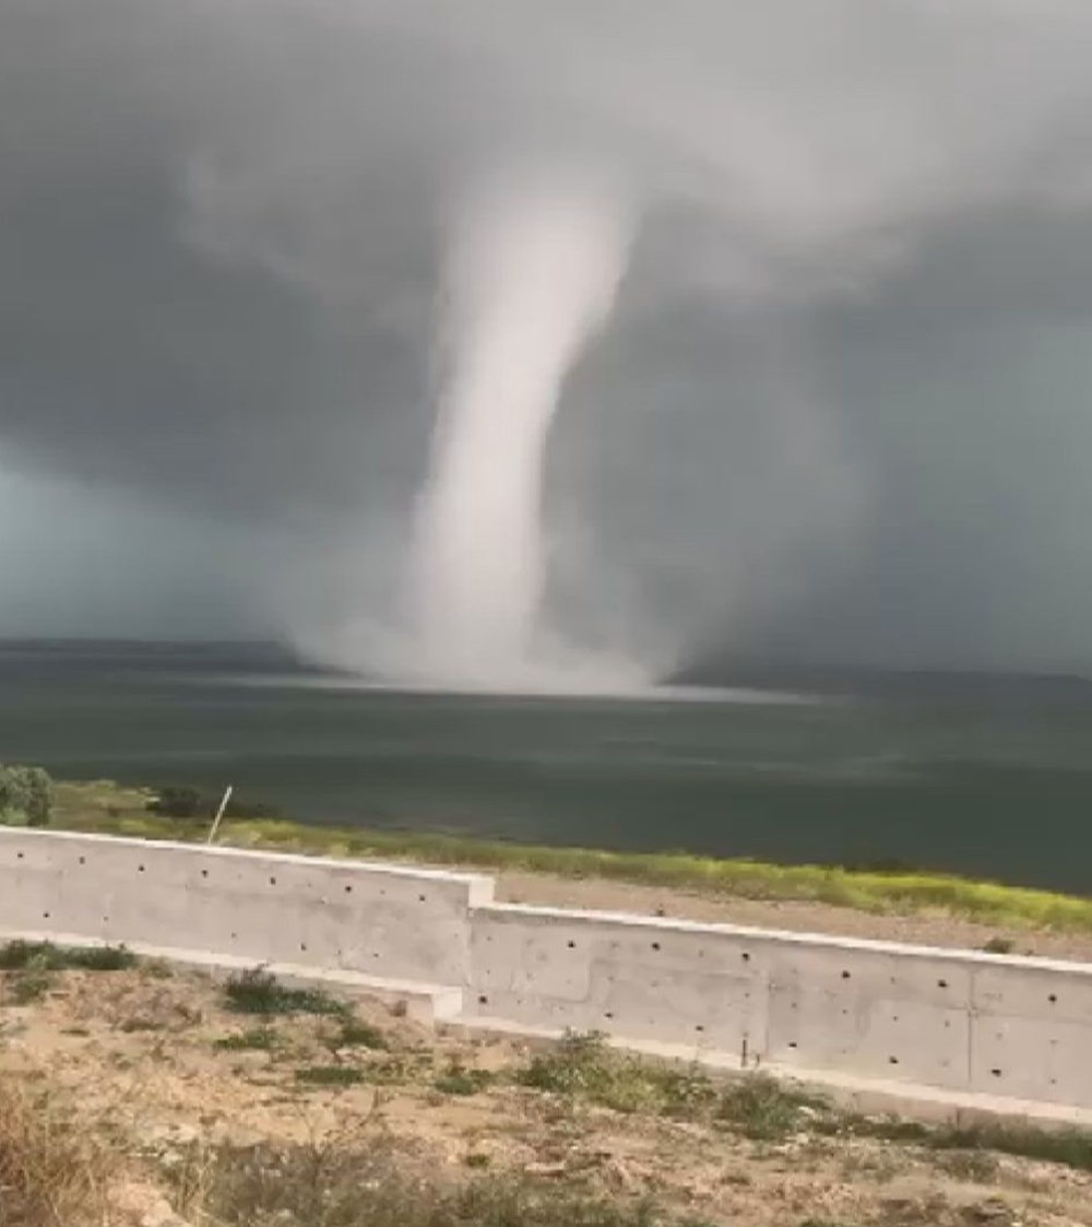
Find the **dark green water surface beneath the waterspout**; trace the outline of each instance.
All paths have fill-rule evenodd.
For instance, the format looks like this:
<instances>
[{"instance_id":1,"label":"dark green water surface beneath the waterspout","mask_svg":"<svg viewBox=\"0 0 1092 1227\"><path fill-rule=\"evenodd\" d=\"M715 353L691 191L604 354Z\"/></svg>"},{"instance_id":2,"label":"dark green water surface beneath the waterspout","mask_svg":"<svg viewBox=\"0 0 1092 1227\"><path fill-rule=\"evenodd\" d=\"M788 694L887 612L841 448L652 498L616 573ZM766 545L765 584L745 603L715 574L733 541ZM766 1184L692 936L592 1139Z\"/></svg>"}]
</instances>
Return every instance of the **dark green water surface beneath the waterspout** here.
<instances>
[{"instance_id":1,"label":"dark green water surface beneath the waterspout","mask_svg":"<svg viewBox=\"0 0 1092 1227\"><path fill-rule=\"evenodd\" d=\"M348 688L263 650L0 643L0 761L233 783L301 821L828 863L1092 893L1092 687L812 702Z\"/></svg>"}]
</instances>

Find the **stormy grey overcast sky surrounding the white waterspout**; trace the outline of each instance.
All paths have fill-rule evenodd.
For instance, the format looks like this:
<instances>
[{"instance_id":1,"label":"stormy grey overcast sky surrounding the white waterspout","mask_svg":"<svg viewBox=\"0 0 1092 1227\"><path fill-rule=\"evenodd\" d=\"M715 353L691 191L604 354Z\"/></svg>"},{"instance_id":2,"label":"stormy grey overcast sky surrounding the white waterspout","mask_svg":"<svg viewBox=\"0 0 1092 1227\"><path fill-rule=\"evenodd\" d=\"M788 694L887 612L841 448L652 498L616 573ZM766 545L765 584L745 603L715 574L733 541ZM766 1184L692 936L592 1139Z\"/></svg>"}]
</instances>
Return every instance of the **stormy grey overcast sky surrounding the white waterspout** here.
<instances>
[{"instance_id":1,"label":"stormy grey overcast sky surrounding the white waterspout","mask_svg":"<svg viewBox=\"0 0 1092 1227\"><path fill-rule=\"evenodd\" d=\"M0 0L0 634L396 617L452 210L526 167L636 218L574 634L1092 667L1087 0Z\"/></svg>"}]
</instances>

